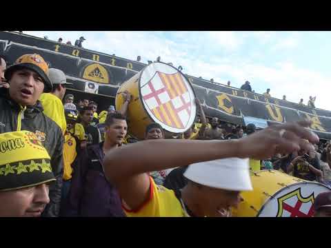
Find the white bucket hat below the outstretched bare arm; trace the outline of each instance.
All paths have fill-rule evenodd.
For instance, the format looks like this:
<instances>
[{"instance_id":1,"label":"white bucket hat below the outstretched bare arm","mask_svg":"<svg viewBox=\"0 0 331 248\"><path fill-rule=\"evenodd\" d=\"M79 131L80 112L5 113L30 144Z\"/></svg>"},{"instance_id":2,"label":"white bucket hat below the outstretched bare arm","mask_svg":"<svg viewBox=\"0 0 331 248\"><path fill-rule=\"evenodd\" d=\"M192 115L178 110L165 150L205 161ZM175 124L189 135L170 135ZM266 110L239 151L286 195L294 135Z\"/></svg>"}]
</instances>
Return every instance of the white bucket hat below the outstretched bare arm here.
<instances>
[{"instance_id":1,"label":"white bucket hat below the outstretched bare arm","mask_svg":"<svg viewBox=\"0 0 331 248\"><path fill-rule=\"evenodd\" d=\"M252 190L248 158L223 158L194 163L186 169L185 178L208 187L231 191Z\"/></svg>"}]
</instances>

